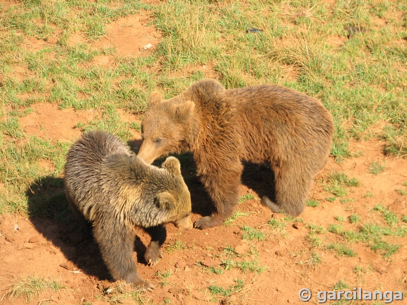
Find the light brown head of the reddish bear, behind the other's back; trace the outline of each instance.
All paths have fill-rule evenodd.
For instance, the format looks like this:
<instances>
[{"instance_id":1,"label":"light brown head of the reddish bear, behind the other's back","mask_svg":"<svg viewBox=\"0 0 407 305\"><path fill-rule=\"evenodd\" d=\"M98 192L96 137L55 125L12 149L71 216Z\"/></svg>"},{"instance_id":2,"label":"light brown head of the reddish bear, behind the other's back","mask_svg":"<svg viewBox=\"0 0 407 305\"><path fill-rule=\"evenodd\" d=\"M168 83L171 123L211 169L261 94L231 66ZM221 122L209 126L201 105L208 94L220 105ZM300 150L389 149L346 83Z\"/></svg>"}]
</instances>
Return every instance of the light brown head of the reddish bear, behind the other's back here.
<instances>
[{"instance_id":1,"label":"light brown head of the reddish bear, behind the other's back","mask_svg":"<svg viewBox=\"0 0 407 305\"><path fill-rule=\"evenodd\" d=\"M137 156L151 164L169 153L181 153L191 133L195 104L173 98L165 101L159 93L150 97L141 121L142 143Z\"/></svg>"}]
</instances>

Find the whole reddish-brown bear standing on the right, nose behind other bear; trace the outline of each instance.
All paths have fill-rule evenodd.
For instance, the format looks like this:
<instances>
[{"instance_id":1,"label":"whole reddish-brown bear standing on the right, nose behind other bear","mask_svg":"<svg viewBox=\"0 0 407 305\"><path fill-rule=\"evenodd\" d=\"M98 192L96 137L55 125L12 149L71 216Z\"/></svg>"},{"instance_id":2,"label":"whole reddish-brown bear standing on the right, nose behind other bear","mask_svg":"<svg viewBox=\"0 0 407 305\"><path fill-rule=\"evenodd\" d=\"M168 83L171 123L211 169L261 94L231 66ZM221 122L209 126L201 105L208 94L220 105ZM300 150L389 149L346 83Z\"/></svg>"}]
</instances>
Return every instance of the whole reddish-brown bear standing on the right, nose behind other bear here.
<instances>
[{"instance_id":1,"label":"whole reddish-brown bear standing on the right, nose behind other bear","mask_svg":"<svg viewBox=\"0 0 407 305\"><path fill-rule=\"evenodd\" d=\"M274 171L273 211L297 216L318 170L327 162L334 125L318 100L278 85L225 89L212 79L169 100L153 93L141 123L137 154L152 163L168 153L192 151L197 174L216 211L194 224L222 224L238 202L242 161Z\"/></svg>"}]
</instances>

